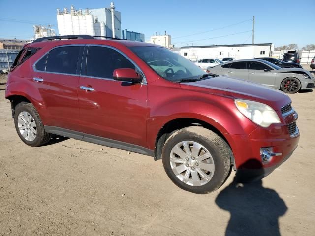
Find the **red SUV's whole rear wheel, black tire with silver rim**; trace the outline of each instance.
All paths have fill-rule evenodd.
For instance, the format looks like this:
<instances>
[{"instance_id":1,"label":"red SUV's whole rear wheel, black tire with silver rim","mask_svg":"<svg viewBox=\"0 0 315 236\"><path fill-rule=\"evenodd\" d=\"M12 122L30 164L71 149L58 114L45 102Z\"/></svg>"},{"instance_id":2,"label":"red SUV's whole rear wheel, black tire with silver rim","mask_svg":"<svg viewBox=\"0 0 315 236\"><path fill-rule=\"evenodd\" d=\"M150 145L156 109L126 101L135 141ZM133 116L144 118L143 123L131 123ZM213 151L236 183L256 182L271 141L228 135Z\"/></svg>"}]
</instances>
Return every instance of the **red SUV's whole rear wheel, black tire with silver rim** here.
<instances>
[{"instance_id":1,"label":"red SUV's whole rear wheel, black tire with silver rim","mask_svg":"<svg viewBox=\"0 0 315 236\"><path fill-rule=\"evenodd\" d=\"M29 146L42 146L50 139L50 134L45 132L44 125L32 103L20 103L16 106L14 125L20 139Z\"/></svg>"}]
</instances>

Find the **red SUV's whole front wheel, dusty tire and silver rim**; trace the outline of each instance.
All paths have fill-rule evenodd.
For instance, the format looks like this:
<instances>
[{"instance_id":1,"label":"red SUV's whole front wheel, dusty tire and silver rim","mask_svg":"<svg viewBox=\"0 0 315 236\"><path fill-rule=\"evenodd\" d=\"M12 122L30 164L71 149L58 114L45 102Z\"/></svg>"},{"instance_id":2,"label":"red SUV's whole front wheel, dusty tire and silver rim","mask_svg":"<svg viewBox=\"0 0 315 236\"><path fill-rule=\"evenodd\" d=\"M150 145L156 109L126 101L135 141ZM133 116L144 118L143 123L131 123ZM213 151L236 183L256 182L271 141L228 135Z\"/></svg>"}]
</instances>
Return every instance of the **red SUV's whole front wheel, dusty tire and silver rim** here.
<instances>
[{"instance_id":1,"label":"red SUV's whole front wheel, dusty tire and silver rim","mask_svg":"<svg viewBox=\"0 0 315 236\"><path fill-rule=\"evenodd\" d=\"M227 143L216 133L190 126L176 131L166 140L162 161L167 176L178 187L205 194L217 190L229 176L231 153Z\"/></svg>"}]
</instances>

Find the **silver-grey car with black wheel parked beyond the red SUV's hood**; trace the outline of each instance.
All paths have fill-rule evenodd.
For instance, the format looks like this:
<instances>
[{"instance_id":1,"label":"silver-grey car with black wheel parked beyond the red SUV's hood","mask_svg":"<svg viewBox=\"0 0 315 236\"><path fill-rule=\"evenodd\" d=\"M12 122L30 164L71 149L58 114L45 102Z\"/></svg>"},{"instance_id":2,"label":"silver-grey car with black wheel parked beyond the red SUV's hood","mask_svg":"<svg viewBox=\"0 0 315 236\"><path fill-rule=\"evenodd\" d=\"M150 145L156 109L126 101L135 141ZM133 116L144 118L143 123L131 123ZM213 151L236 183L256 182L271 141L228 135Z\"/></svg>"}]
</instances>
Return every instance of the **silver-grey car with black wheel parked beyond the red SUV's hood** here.
<instances>
[{"instance_id":1,"label":"silver-grey car with black wheel parked beyond the red SUV's hood","mask_svg":"<svg viewBox=\"0 0 315 236\"><path fill-rule=\"evenodd\" d=\"M208 67L207 72L240 78L275 89L285 93L296 93L299 90L314 89L315 77L307 70L300 68L281 68L265 60L248 59L235 60Z\"/></svg>"}]
</instances>

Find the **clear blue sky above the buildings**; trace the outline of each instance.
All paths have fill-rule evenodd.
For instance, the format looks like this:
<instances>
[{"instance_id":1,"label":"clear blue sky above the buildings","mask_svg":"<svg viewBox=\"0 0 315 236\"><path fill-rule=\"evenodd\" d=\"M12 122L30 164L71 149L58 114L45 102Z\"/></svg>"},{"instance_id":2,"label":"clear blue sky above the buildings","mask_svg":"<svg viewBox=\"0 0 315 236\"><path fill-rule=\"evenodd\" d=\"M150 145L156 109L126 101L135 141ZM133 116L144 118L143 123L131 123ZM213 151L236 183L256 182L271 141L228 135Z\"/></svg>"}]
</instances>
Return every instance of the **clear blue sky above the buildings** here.
<instances>
[{"instance_id":1,"label":"clear blue sky above the buildings","mask_svg":"<svg viewBox=\"0 0 315 236\"><path fill-rule=\"evenodd\" d=\"M263 3L258 0L113 1L116 10L122 14L122 29L144 33L146 40L156 32L164 34L166 30L176 46L252 43L250 19L254 15L255 43L274 43L275 46L296 43L299 47L315 44L315 0L286 0L285 2L264 0ZM1 38L32 37L32 24L3 19L52 23L57 31L56 8L65 6L69 8L71 4L76 9L103 8L109 7L111 0L15 0L13 2L0 0ZM236 24L239 22L243 23ZM222 27L225 28L218 29ZM205 31L209 32L200 33ZM191 34L195 35L187 36Z\"/></svg>"}]
</instances>

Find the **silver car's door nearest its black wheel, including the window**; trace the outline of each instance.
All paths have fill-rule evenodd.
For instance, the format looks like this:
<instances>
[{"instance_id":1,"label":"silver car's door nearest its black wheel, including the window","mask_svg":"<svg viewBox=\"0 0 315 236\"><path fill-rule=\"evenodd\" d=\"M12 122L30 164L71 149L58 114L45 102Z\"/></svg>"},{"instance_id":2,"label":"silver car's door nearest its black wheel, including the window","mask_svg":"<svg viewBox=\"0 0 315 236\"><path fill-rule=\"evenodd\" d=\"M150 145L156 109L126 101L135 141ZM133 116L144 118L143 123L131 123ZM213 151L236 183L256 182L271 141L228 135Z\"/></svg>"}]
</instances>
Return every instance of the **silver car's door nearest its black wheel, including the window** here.
<instances>
[{"instance_id":1,"label":"silver car's door nearest its black wheel, including the window","mask_svg":"<svg viewBox=\"0 0 315 236\"><path fill-rule=\"evenodd\" d=\"M276 88L275 70L273 68L258 61L250 61L249 66L250 81ZM268 71L265 71L265 69Z\"/></svg>"}]
</instances>

